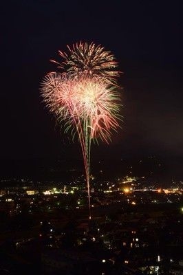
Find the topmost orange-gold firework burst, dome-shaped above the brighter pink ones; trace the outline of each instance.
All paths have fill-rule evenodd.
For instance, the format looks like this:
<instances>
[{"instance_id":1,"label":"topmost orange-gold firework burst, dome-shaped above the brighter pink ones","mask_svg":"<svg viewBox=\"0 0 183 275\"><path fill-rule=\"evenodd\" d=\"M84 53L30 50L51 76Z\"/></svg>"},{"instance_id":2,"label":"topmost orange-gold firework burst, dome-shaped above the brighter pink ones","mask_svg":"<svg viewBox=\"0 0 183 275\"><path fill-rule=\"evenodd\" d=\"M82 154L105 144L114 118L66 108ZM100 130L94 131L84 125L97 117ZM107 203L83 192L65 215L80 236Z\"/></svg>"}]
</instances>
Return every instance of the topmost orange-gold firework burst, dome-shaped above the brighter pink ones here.
<instances>
[{"instance_id":1,"label":"topmost orange-gold firework burst, dome-shaped above the brighter pink ones","mask_svg":"<svg viewBox=\"0 0 183 275\"><path fill-rule=\"evenodd\" d=\"M58 51L63 61L58 63L58 68L71 76L85 74L86 76L102 76L107 83L115 83L120 72L116 71L118 63L113 54L105 51L101 45L94 43L76 43L72 47L67 45L68 53Z\"/></svg>"}]
</instances>

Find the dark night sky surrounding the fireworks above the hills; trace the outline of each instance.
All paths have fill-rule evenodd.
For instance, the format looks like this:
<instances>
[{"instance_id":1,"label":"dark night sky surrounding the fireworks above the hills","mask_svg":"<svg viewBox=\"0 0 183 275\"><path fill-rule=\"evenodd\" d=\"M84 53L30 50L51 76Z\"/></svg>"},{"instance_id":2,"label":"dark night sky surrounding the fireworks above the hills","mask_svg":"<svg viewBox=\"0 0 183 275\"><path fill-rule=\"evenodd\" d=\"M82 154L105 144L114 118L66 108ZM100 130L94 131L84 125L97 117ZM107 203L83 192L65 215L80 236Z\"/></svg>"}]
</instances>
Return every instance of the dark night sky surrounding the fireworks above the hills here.
<instances>
[{"instance_id":1,"label":"dark night sky surrounding the fireworks above the hills","mask_svg":"<svg viewBox=\"0 0 183 275\"><path fill-rule=\"evenodd\" d=\"M77 41L116 56L122 129L94 155L183 155L182 1L19 0L1 3L1 159L77 152L58 134L39 83ZM77 148L77 149L76 149Z\"/></svg>"}]
</instances>

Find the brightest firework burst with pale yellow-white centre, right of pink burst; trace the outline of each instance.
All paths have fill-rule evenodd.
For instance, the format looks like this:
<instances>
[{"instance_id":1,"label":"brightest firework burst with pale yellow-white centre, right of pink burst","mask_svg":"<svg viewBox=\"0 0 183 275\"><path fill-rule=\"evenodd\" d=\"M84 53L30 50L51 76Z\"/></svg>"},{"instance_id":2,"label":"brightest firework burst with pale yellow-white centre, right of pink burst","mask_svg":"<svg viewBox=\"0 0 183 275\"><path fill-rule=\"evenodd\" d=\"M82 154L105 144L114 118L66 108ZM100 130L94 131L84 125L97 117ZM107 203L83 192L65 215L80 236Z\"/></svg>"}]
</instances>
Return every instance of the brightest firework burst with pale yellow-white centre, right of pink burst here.
<instances>
[{"instance_id":1,"label":"brightest firework burst with pale yellow-white centre, right of pink burst","mask_svg":"<svg viewBox=\"0 0 183 275\"><path fill-rule=\"evenodd\" d=\"M91 138L108 142L111 130L118 128L120 95L102 78L80 78L76 83L80 118L88 121ZM75 95L76 95L75 94Z\"/></svg>"}]
</instances>

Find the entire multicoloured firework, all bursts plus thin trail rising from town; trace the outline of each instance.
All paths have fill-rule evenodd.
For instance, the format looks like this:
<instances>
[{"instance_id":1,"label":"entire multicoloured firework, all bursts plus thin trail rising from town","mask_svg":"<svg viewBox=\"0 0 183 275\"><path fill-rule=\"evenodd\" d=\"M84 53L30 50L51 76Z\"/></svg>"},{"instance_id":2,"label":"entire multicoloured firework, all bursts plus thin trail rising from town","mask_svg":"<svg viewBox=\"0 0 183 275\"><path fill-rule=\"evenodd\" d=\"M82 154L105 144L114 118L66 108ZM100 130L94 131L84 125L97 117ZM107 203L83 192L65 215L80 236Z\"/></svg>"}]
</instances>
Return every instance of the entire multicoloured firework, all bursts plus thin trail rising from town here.
<instances>
[{"instance_id":1,"label":"entire multicoloured firework, all bursts plus thin trail rising from town","mask_svg":"<svg viewBox=\"0 0 183 275\"><path fill-rule=\"evenodd\" d=\"M118 129L120 94L114 83L118 72L114 71L114 57L94 43L73 45L69 52L70 56L60 52L65 59L59 66L63 72L50 73L43 78L41 95L56 120L64 123L65 132L70 133L73 139L78 134L85 164L91 219L91 142L98 142L98 139L109 142L111 133Z\"/></svg>"}]
</instances>

